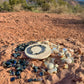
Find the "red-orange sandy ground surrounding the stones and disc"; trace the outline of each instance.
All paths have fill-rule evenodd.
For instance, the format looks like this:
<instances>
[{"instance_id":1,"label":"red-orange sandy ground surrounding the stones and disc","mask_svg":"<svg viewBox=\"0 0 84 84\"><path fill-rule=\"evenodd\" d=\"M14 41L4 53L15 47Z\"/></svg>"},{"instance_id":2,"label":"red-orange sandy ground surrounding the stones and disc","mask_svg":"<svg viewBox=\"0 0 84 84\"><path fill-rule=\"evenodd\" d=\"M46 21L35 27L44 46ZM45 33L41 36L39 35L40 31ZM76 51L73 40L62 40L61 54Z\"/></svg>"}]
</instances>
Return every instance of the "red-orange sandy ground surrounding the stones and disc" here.
<instances>
[{"instance_id":1,"label":"red-orange sandy ground surrounding the stones and disc","mask_svg":"<svg viewBox=\"0 0 84 84\"><path fill-rule=\"evenodd\" d=\"M77 41L79 44L84 43L84 23L80 17L67 14L57 15L24 11L0 13L0 63L10 59L11 51L17 44L30 40L43 39L50 39L55 43L56 41L61 41L61 39L66 38L76 39L75 42ZM63 42L65 45L68 45L68 47L72 48L74 46L67 44L68 42L65 40L62 40L62 43ZM12 43L14 43L13 46L11 45ZM75 47L76 46L77 45L75 45ZM84 48L83 44L81 44L81 47ZM74 71L79 67L78 64L76 65L77 66L73 69ZM21 73L21 79L11 83L7 70L9 69L4 69L0 66L0 84L27 84L24 78L26 77L28 79L34 75L31 71L26 70ZM65 75L65 72L67 72L67 75ZM67 70L60 74L60 77L53 74L50 75L49 80L44 79L41 83L32 82L30 84L78 84L78 82L72 82L71 78L74 77L74 74L68 74ZM84 78L84 74L82 75ZM79 84L84 84L84 82Z\"/></svg>"}]
</instances>

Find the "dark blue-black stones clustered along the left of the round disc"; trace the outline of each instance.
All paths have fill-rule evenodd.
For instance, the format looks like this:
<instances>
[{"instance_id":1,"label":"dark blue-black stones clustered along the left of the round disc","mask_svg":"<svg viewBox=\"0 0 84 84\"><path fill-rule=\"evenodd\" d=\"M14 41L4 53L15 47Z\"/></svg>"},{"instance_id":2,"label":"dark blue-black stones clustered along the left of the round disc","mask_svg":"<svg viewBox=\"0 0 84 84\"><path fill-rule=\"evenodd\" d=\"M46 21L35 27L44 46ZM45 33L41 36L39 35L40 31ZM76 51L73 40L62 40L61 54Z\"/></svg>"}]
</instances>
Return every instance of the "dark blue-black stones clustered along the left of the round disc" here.
<instances>
[{"instance_id":1,"label":"dark blue-black stones clustered along the left of the round disc","mask_svg":"<svg viewBox=\"0 0 84 84\"><path fill-rule=\"evenodd\" d=\"M21 51L24 51L27 46L30 44L36 43L36 41L30 41L28 43L22 43L18 45L15 48L15 53L12 53L13 59L4 61L2 63L2 66L4 68L13 68L12 70L9 70L8 72L10 73L12 77L10 81L14 81L15 79L21 78L20 74L23 72L27 66L29 66L29 62L25 59L20 59L19 57L21 56ZM19 59L18 59L19 58ZM38 79L34 79L33 81L39 81ZM29 82L29 80L28 80Z\"/></svg>"}]
</instances>

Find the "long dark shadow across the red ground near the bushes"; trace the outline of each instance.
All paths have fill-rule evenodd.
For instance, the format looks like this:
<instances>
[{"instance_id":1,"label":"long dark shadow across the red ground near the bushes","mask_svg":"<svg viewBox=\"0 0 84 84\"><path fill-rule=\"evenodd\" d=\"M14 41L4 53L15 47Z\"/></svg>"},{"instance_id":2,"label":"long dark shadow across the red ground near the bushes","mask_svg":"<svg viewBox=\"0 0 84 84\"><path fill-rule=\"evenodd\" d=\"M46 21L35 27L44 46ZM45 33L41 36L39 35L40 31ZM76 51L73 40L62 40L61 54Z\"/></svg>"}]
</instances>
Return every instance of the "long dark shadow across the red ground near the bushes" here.
<instances>
[{"instance_id":1,"label":"long dark shadow across the red ground near the bushes","mask_svg":"<svg viewBox=\"0 0 84 84\"><path fill-rule=\"evenodd\" d=\"M53 18L52 23L55 26L73 28L72 25L78 25L80 28L84 28L84 22L82 20L77 20L77 19Z\"/></svg>"}]
</instances>

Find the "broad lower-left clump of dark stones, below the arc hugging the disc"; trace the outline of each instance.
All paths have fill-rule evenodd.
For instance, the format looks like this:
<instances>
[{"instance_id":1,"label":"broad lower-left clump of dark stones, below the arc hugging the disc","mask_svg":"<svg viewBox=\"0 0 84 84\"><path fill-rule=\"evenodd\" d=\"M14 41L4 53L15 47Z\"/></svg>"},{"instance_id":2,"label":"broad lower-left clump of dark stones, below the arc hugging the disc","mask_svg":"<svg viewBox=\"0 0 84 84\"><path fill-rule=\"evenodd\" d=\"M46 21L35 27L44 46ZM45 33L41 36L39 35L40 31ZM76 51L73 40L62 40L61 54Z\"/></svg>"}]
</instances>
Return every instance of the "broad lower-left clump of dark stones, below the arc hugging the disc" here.
<instances>
[{"instance_id":1,"label":"broad lower-left clump of dark stones, below the arc hugging the disc","mask_svg":"<svg viewBox=\"0 0 84 84\"><path fill-rule=\"evenodd\" d=\"M21 78L20 74L23 72L26 67L29 65L29 62L26 61L25 59L10 59L6 62L3 62L2 64L4 68L13 68L12 70L9 70L8 72L10 73L11 76L16 76L11 78L11 81L14 81L15 79Z\"/></svg>"}]
</instances>

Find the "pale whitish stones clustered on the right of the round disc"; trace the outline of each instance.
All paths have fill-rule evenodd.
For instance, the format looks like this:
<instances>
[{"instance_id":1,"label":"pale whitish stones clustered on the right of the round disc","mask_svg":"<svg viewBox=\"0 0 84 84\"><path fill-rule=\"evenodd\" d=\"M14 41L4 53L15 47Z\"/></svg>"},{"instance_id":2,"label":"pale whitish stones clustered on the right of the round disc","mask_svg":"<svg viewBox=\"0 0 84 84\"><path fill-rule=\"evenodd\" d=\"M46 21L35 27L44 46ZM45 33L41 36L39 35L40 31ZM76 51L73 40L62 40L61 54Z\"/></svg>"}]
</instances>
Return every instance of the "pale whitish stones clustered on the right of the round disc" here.
<instances>
[{"instance_id":1,"label":"pale whitish stones clustered on the right of the round disc","mask_svg":"<svg viewBox=\"0 0 84 84\"><path fill-rule=\"evenodd\" d=\"M74 50L67 48L61 48L60 45L55 45L50 42L46 42L51 47L52 54L55 54L56 57L60 57L61 62L63 62L63 68L67 69L68 65L74 62L74 58L70 52L74 52ZM57 60L56 57L49 57L47 60L44 60L45 67L48 68L48 73L57 73L57 70L59 68L59 65L55 63Z\"/></svg>"}]
</instances>

